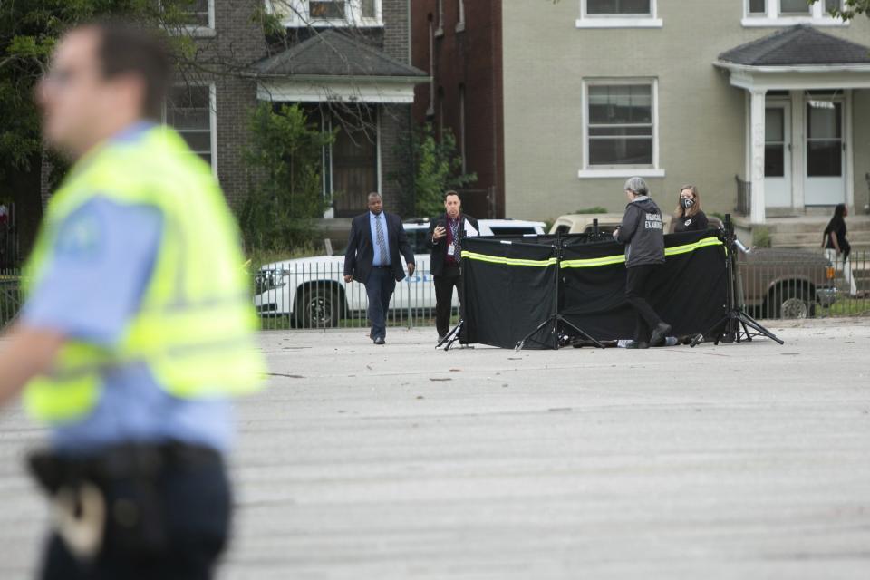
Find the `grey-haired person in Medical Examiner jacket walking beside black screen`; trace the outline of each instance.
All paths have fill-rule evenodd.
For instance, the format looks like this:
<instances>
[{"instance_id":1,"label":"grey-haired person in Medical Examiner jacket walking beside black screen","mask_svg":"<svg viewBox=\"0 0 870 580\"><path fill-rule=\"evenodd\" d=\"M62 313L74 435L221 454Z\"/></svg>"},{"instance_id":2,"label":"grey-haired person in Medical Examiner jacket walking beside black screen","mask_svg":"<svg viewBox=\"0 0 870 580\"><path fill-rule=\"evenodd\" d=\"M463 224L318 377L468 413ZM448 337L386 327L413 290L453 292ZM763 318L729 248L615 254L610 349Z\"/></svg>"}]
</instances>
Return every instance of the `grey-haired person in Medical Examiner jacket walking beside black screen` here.
<instances>
[{"instance_id":1,"label":"grey-haired person in Medical Examiner jacket walking beside black screen","mask_svg":"<svg viewBox=\"0 0 870 580\"><path fill-rule=\"evenodd\" d=\"M637 313L630 348L662 346L671 332L671 325L662 321L647 300L655 271L664 264L662 210L648 194L649 188L643 179L631 178L625 182L629 203L623 223L614 231L616 241L625 245L625 300Z\"/></svg>"}]
</instances>

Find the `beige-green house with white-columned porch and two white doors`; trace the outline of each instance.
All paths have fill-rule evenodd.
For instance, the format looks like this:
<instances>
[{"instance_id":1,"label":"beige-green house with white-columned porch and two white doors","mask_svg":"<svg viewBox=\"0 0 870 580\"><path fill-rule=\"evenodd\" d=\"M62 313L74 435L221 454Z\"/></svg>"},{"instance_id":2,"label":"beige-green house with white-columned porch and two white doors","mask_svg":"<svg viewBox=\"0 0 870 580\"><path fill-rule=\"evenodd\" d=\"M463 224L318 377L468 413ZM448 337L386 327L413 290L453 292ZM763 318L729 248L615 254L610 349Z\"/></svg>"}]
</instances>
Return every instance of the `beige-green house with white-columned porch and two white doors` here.
<instances>
[{"instance_id":1,"label":"beige-green house with white-columned porch and two white doors","mask_svg":"<svg viewBox=\"0 0 870 580\"><path fill-rule=\"evenodd\" d=\"M618 211L632 175L665 211L865 213L870 19L839 2L503 2L507 215Z\"/></svg>"}]
</instances>

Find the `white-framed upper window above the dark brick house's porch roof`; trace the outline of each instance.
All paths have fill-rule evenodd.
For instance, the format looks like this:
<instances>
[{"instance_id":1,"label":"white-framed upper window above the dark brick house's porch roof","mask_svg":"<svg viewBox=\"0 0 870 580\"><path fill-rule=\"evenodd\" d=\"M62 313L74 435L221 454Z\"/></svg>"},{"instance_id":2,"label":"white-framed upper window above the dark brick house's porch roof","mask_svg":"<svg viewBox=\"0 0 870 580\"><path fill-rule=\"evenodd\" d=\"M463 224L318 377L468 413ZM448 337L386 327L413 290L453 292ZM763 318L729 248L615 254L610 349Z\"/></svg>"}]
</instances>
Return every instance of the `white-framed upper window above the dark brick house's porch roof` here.
<instances>
[{"instance_id":1,"label":"white-framed upper window above the dark brick house's porch roof","mask_svg":"<svg viewBox=\"0 0 870 580\"><path fill-rule=\"evenodd\" d=\"M266 0L266 8L288 27L382 25L382 0Z\"/></svg>"}]
</instances>

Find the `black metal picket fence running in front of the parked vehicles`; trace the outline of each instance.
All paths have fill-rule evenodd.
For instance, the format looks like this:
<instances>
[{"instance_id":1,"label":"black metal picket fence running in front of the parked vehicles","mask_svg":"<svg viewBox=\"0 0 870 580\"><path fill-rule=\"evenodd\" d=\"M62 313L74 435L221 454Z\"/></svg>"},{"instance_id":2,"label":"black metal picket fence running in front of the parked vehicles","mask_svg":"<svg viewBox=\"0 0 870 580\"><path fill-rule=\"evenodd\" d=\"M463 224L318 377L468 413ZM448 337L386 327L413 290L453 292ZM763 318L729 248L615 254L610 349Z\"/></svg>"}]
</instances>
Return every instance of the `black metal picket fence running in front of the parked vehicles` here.
<instances>
[{"instance_id":1,"label":"black metal picket fence running in front of the parked vehicles","mask_svg":"<svg viewBox=\"0 0 870 580\"><path fill-rule=\"evenodd\" d=\"M329 258L324 258L329 259ZM738 261L739 304L760 319L870 315L870 251L842 256L755 249ZM254 304L264 330L366 328L368 297L344 283L339 261L312 260L252 277ZM14 321L23 296L18 270L0 270L0 327ZM452 320L459 317L453 297ZM427 269L396 283L387 323L406 328L434 324L435 287Z\"/></svg>"}]
</instances>

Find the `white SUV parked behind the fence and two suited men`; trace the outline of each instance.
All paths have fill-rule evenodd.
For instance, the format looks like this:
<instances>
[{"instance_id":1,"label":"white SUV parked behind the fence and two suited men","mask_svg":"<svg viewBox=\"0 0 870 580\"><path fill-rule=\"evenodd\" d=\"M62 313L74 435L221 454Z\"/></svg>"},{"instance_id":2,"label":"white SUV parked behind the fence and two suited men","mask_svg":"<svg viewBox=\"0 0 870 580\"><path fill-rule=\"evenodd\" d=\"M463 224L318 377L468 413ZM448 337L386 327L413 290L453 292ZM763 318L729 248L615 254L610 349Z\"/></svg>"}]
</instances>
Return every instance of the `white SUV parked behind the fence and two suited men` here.
<instances>
[{"instance_id":1,"label":"white SUV parked behind the fence and two suited men","mask_svg":"<svg viewBox=\"0 0 870 580\"><path fill-rule=\"evenodd\" d=\"M396 285L391 314L430 314L435 308L435 286L429 271L426 234L429 220L404 223L417 271ZM479 219L481 236L536 236L544 222L516 219ZM314 256L274 262L256 273L254 305L261 316L283 316L299 327L324 328L343 318L365 315L368 299L362 284L343 279L344 256ZM458 305L456 295L454 305Z\"/></svg>"}]
</instances>

